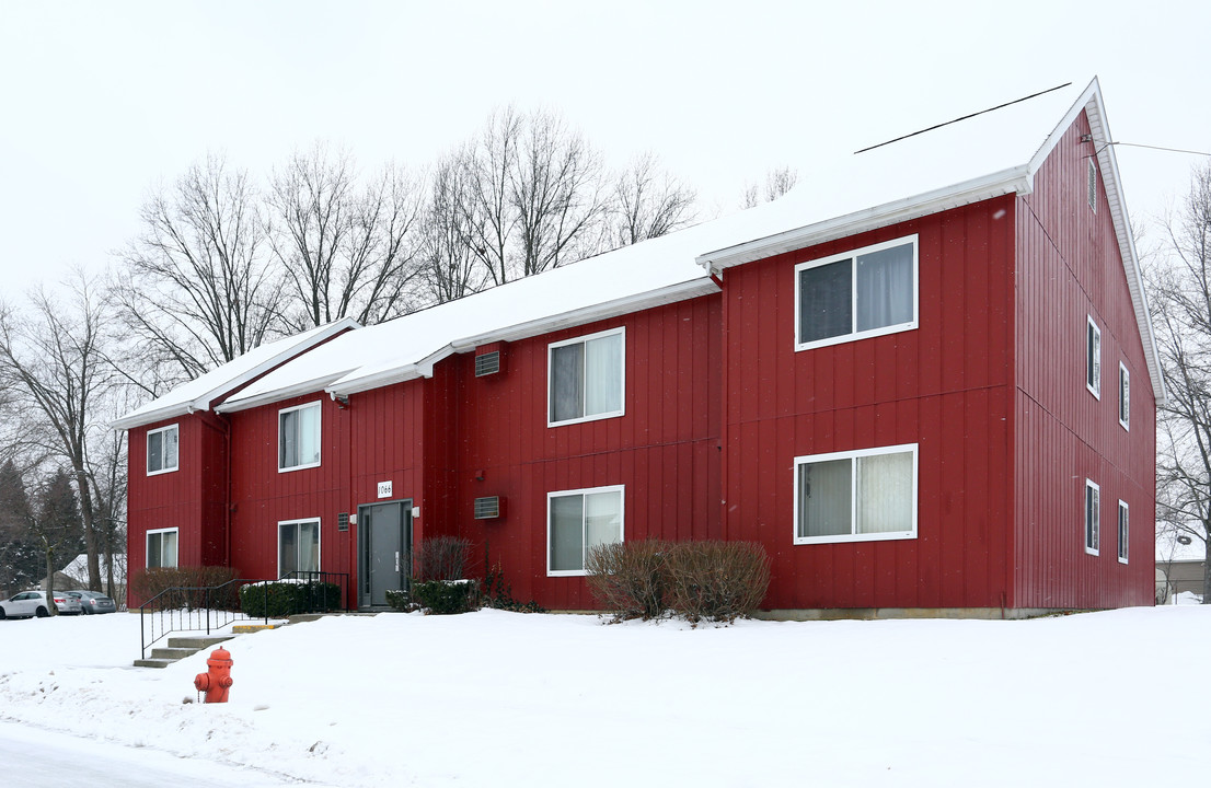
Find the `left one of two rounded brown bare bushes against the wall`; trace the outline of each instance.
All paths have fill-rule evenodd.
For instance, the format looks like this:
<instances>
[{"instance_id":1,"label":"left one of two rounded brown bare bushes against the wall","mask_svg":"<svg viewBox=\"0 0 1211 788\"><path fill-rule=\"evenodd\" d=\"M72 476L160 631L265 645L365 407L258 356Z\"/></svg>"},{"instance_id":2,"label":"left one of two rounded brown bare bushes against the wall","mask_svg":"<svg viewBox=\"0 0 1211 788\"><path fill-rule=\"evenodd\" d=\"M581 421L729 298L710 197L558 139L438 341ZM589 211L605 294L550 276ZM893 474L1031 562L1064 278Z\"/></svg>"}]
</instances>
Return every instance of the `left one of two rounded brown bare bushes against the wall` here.
<instances>
[{"instance_id":1,"label":"left one of two rounded brown bare bushes against the wall","mask_svg":"<svg viewBox=\"0 0 1211 788\"><path fill-rule=\"evenodd\" d=\"M665 557L673 543L658 540L598 545L585 558L589 593L615 621L654 619L665 611Z\"/></svg>"}]
</instances>

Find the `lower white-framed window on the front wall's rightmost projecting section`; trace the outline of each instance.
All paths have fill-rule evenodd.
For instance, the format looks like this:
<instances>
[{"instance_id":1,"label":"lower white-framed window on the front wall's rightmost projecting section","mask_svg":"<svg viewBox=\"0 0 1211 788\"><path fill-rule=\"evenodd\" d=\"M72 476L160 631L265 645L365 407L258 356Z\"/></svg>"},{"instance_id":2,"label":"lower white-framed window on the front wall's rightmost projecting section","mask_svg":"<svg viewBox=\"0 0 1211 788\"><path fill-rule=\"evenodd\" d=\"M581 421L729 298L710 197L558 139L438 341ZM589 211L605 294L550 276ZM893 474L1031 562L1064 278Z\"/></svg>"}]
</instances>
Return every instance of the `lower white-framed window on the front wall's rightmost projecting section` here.
<instances>
[{"instance_id":1,"label":"lower white-framed window on the front wall's rightmost projecting section","mask_svg":"<svg viewBox=\"0 0 1211 788\"><path fill-rule=\"evenodd\" d=\"M794 543L917 537L917 444L794 458Z\"/></svg>"}]
</instances>

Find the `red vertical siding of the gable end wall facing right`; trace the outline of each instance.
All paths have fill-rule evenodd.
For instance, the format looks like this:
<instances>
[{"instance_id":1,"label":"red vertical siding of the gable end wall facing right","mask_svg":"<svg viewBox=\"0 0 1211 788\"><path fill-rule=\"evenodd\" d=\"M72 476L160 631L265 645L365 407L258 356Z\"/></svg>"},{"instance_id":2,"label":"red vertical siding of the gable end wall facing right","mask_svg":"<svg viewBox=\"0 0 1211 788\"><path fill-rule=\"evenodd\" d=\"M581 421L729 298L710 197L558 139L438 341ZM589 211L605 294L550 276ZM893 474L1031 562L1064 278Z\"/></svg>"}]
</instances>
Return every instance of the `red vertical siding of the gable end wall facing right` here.
<instances>
[{"instance_id":1,"label":"red vertical siding of the gable end wall facing right","mask_svg":"<svg viewBox=\"0 0 1211 788\"><path fill-rule=\"evenodd\" d=\"M1017 207L1014 392L1016 604L1152 604L1155 398L1104 190L1086 200L1084 115ZM1098 174L1101 184L1101 174ZM1102 332L1102 396L1085 387L1085 326ZM1131 374L1131 428L1118 421L1118 374ZM1101 487L1101 551L1085 553L1084 490ZM1118 560L1118 501L1130 506L1129 563Z\"/></svg>"}]
</instances>

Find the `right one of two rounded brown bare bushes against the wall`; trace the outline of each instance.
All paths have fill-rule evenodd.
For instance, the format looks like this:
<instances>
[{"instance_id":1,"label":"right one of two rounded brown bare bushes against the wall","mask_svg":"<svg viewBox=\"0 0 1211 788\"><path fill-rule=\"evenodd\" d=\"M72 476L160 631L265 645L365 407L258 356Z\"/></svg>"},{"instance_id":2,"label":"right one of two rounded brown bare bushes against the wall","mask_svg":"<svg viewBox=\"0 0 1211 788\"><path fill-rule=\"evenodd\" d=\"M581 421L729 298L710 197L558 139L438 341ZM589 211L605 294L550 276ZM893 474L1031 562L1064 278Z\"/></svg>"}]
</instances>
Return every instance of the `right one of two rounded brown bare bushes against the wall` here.
<instances>
[{"instance_id":1,"label":"right one of two rounded brown bare bushes against the wall","mask_svg":"<svg viewBox=\"0 0 1211 788\"><path fill-rule=\"evenodd\" d=\"M747 619L769 588L769 558L753 542L677 542L664 559L668 606L694 623Z\"/></svg>"}]
</instances>

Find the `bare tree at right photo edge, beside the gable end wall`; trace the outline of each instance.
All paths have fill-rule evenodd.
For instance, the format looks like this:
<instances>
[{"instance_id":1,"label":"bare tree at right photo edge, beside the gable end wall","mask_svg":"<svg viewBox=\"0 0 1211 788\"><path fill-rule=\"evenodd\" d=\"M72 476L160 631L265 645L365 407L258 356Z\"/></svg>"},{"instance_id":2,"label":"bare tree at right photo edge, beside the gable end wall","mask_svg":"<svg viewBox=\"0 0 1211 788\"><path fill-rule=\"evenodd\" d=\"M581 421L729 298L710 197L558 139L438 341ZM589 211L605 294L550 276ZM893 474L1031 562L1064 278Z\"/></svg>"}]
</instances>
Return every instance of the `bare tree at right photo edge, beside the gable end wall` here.
<instances>
[{"instance_id":1,"label":"bare tree at right photo edge, beside the gable end wall","mask_svg":"<svg viewBox=\"0 0 1211 788\"><path fill-rule=\"evenodd\" d=\"M1204 546L1211 604L1211 165L1195 169L1169 254L1149 275L1167 402L1158 413L1157 520Z\"/></svg>"}]
</instances>

